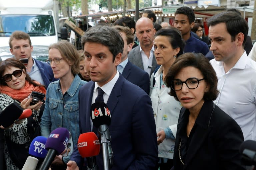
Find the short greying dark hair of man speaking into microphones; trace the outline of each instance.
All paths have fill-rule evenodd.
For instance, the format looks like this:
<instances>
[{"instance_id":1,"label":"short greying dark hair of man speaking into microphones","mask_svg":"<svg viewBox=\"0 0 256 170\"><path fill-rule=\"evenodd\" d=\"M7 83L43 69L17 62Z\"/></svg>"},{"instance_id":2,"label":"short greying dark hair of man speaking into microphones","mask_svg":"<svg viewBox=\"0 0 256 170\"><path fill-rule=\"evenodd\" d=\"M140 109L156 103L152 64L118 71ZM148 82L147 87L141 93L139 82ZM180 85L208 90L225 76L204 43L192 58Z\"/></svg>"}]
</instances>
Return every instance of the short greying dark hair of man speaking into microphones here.
<instances>
[{"instance_id":1,"label":"short greying dark hair of man speaking into microphones","mask_svg":"<svg viewBox=\"0 0 256 170\"><path fill-rule=\"evenodd\" d=\"M123 53L124 41L120 33L113 27L106 25L96 25L88 29L81 38L82 48L86 42L100 43L107 46L113 54L113 62L118 53Z\"/></svg>"}]
</instances>

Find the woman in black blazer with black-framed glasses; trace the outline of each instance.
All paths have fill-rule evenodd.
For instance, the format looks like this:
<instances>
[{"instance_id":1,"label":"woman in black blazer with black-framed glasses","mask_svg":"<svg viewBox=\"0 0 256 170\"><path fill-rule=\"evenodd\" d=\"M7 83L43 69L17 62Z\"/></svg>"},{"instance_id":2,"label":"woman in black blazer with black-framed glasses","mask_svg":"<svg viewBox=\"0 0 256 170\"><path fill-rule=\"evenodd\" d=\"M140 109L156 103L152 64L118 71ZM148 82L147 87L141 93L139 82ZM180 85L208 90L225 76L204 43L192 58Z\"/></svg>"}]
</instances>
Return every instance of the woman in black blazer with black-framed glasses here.
<instances>
[{"instance_id":1,"label":"woman in black blazer with black-framed glasses","mask_svg":"<svg viewBox=\"0 0 256 170\"><path fill-rule=\"evenodd\" d=\"M212 101L219 94L216 73L202 54L185 53L166 75L169 94L180 101L174 147L174 169L245 169L239 147L239 125Z\"/></svg>"}]
</instances>

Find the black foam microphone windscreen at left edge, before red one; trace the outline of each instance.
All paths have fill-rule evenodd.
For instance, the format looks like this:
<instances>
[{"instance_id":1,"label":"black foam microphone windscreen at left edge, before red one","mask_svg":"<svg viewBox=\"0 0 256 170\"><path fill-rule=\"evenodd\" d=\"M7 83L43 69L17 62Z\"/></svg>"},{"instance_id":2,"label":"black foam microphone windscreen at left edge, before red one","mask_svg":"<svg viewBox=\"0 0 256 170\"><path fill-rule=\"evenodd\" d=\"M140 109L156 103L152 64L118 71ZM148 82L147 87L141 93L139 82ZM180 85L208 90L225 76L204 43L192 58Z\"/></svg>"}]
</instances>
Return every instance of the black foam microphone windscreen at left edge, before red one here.
<instances>
[{"instance_id":1,"label":"black foam microphone windscreen at left edge, before red one","mask_svg":"<svg viewBox=\"0 0 256 170\"><path fill-rule=\"evenodd\" d=\"M8 128L20 117L22 112L23 109L18 103L10 104L0 113L0 125Z\"/></svg>"}]
</instances>

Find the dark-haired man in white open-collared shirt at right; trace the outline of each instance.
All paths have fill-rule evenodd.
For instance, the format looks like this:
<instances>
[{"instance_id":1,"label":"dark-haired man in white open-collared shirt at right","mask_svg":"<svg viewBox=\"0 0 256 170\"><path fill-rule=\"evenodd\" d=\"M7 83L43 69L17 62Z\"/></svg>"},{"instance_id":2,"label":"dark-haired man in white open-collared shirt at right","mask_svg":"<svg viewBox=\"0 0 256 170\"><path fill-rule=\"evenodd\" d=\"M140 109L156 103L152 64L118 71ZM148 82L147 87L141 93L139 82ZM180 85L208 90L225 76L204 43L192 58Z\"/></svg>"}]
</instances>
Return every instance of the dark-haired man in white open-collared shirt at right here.
<instances>
[{"instance_id":1,"label":"dark-haired man in white open-collared shirt at right","mask_svg":"<svg viewBox=\"0 0 256 170\"><path fill-rule=\"evenodd\" d=\"M256 140L256 62L244 50L247 22L236 12L222 12L208 26L220 91L214 102L238 123L245 140Z\"/></svg>"}]
</instances>

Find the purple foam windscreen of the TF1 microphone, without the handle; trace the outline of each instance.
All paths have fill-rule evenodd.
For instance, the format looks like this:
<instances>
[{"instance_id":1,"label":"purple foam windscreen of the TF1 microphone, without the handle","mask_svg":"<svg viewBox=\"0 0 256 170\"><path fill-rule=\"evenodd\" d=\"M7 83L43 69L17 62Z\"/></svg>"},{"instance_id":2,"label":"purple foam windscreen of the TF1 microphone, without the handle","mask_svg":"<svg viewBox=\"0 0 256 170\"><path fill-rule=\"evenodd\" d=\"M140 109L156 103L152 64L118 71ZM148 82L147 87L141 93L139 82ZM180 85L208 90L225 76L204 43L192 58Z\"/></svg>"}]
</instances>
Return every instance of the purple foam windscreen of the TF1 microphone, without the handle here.
<instances>
[{"instance_id":1,"label":"purple foam windscreen of the TF1 microphone, without the handle","mask_svg":"<svg viewBox=\"0 0 256 170\"><path fill-rule=\"evenodd\" d=\"M60 155L67 147L69 141L69 131L66 128L54 129L46 140L45 148L54 149Z\"/></svg>"}]
</instances>

